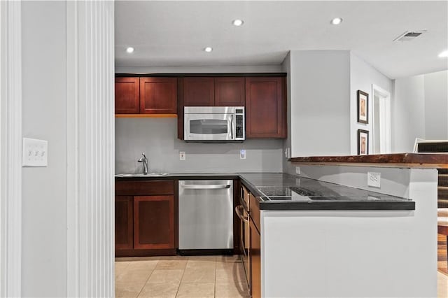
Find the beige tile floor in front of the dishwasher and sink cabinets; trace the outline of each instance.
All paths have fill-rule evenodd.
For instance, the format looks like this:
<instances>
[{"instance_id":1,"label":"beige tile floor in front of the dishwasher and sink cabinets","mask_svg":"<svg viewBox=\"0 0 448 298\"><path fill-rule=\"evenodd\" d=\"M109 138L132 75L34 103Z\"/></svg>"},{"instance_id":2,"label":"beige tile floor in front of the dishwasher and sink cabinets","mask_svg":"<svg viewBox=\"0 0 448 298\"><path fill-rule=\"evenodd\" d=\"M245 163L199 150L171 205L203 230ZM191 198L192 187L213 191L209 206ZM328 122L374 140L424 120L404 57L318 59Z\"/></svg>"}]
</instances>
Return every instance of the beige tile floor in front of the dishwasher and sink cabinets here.
<instances>
[{"instance_id":1,"label":"beige tile floor in front of the dishwasher and sink cabinets","mask_svg":"<svg viewBox=\"0 0 448 298\"><path fill-rule=\"evenodd\" d=\"M239 257L116 258L116 297L248 297Z\"/></svg>"}]
</instances>

